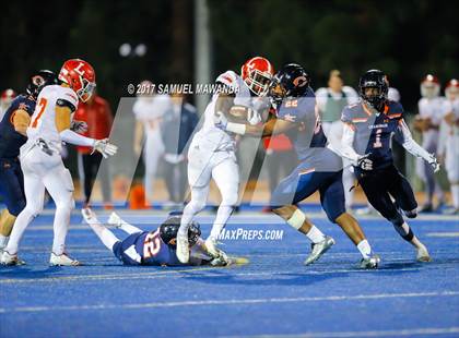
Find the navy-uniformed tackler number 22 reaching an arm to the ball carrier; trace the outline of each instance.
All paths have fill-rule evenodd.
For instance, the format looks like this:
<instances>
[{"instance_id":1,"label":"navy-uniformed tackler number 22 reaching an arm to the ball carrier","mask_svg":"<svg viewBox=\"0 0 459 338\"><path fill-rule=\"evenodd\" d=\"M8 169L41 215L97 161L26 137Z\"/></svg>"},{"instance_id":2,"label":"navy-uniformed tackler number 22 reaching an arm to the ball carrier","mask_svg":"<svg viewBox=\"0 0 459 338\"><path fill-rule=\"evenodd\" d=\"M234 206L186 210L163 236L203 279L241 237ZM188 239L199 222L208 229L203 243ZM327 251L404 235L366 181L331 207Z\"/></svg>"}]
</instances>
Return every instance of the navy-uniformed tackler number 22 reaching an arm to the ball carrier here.
<instances>
[{"instance_id":1,"label":"navy-uniformed tackler number 22 reaching an arm to the ball carrier","mask_svg":"<svg viewBox=\"0 0 459 338\"><path fill-rule=\"evenodd\" d=\"M249 125L228 122L224 114L219 113L215 125L228 132L258 137L285 133L292 140L301 164L280 182L271 196L270 206L313 242L306 265L317 261L334 244L334 240L325 236L296 206L319 191L320 203L328 218L343 229L361 252L361 267L375 268L379 264L379 256L372 252L357 220L345 212L342 159L327 146L309 83L309 75L301 65L286 64L273 76L270 85L270 96L276 108L275 119L262 125Z\"/></svg>"}]
</instances>

